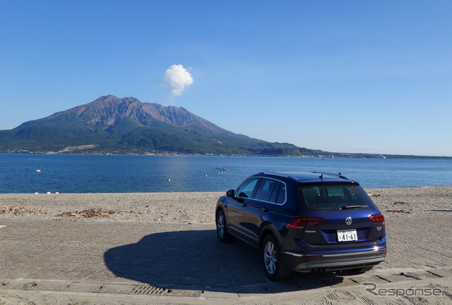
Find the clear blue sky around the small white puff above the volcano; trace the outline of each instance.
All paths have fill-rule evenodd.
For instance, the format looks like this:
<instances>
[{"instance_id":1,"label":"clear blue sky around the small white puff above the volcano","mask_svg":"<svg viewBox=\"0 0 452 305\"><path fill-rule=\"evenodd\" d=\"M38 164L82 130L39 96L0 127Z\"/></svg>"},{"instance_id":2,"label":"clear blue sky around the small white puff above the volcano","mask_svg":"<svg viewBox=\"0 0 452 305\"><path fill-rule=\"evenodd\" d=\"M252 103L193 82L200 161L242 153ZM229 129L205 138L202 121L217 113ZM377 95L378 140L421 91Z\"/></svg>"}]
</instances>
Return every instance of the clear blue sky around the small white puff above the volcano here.
<instances>
[{"instance_id":1,"label":"clear blue sky around the small white puff above the volcano","mask_svg":"<svg viewBox=\"0 0 452 305\"><path fill-rule=\"evenodd\" d=\"M452 156L452 1L0 0L0 130L103 95L270 142ZM179 95L165 72L193 82Z\"/></svg>"}]
</instances>

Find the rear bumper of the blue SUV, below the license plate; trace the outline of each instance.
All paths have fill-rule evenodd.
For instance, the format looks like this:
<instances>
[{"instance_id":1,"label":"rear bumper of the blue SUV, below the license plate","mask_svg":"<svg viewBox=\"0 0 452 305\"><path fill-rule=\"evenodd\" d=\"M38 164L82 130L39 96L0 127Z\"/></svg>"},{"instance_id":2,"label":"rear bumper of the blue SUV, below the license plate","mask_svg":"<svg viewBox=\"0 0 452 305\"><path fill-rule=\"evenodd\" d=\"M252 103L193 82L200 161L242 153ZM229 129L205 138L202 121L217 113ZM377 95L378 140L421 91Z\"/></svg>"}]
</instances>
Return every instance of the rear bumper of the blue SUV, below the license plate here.
<instances>
[{"instance_id":1,"label":"rear bumper of the blue SUV, below the license plate","mask_svg":"<svg viewBox=\"0 0 452 305\"><path fill-rule=\"evenodd\" d=\"M283 251L282 256L287 268L295 271L309 269L345 270L381 263L386 258L386 246L376 250L335 254L297 254Z\"/></svg>"}]
</instances>

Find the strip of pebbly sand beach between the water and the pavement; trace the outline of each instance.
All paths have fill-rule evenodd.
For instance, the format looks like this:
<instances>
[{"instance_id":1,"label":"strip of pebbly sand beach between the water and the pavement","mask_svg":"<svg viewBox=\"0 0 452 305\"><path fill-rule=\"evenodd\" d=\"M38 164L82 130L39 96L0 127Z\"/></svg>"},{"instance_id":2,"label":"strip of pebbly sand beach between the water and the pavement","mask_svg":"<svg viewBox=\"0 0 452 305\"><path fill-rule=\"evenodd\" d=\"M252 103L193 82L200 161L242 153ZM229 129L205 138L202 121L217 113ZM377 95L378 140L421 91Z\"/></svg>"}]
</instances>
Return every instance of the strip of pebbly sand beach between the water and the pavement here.
<instances>
[{"instance_id":1,"label":"strip of pebbly sand beach between the water and the pavement","mask_svg":"<svg viewBox=\"0 0 452 305\"><path fill-rule=\"evenodd\" d=\"M444 216L452 210L452 187L365 190L386 218ZM223 194L0 194L0 219L213 224Z\"/></svg>"}]
</instances>

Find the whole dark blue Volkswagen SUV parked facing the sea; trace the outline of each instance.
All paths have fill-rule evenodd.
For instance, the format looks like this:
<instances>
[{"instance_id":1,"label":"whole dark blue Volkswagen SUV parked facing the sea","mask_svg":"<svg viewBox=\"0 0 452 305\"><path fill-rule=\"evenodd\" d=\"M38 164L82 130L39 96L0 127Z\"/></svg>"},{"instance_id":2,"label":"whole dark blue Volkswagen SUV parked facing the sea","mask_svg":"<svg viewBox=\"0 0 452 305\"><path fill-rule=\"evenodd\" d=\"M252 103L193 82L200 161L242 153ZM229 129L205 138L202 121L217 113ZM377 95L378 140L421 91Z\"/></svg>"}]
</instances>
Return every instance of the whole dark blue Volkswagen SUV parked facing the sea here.
<instances>
[{"instance_id":1,"label":"whole dark blue Volkswagen SUV parked facing the sea","mask_svg":"<svg viewBox=\"0 0 452 305\"><path fill-rule=\"evenodd\" d=\"M220 197L217 235L261 249L270 280L292 270L370 270L386 258L385 220L358 182L327 173L258 173Z\"/></svg>"}]
</instances>

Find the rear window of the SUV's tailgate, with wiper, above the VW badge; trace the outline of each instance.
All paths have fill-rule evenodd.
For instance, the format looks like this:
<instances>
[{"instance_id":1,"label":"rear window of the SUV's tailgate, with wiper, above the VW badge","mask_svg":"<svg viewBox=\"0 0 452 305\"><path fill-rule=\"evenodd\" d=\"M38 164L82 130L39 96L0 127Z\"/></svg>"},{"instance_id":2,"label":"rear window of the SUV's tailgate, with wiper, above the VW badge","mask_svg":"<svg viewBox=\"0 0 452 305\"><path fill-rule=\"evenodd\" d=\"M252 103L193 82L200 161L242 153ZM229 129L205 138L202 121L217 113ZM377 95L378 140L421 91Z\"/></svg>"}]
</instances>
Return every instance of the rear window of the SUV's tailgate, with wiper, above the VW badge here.
<instances>
[{"instance_id":1,"label":"rear window of the SUV's tailgate, with wiper, above the VW badge","mask_svg":"<svg viewBox=\"0 0 452 305\"><path fill-rule=\"evenodd\" d=\"M303 185L297 187L297 197L302 208L311 211L376 208L358 185Z\"/></svg>"}]
</instances>

